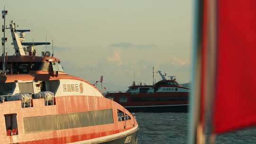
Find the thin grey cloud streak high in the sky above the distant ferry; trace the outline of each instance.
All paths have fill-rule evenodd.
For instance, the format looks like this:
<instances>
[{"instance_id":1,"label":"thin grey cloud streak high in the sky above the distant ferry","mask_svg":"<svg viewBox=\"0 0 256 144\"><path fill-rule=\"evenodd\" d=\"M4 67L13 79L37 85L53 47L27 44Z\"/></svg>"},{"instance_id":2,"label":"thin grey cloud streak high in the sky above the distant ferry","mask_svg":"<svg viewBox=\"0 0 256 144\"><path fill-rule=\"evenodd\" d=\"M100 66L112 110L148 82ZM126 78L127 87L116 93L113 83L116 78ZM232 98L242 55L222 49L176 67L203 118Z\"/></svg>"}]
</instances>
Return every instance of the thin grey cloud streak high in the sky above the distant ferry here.
<instances>
[{"instance_id":1,"label":"thin grey cloud streak high in the sky above the distant ferry","mask_svg":"<svg viewBox=\"0 0 256 144\"><path fill-rule=\"evenodd\" d=\"M119 48L137 48L137 49L146 49L146 48L154 48L156 45L136 45L132 43L117 43L110 45L111 47L119 47Z\"/></svg>"}]
</instances>

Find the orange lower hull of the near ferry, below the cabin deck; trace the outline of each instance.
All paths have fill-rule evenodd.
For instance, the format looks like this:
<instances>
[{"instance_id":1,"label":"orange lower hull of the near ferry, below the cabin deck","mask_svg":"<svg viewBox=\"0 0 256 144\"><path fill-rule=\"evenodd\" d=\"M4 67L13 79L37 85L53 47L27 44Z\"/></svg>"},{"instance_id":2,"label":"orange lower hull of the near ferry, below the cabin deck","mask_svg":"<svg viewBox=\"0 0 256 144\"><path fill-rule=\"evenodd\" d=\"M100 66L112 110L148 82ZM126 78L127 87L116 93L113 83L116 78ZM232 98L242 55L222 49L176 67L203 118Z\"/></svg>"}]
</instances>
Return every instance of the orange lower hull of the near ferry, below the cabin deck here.
<instances>
[{"instance_id":1,"label":"orange lower hull of the near ferry, below the cabin deck","mask_svg":"<svg viewBox=\"0 0 256 144\"><path fill-rule=\"evenodd\" d=\"M97 122L95 122L95 120L97 118L104 118L104 116L96 116L97 114L95 112L97 111L100 115L101 111L106 109L110 110L113 114L112 121L108 120L105 122L108 124L96 125ZM44 99L33 99L33 107L30 108L21 108L20 101L4 102L0 104L0 113L1 115L17 114L18 135L7 136L6 131L2 130L0 131L0 143L80 144L79 142L81 142L81 144L97 144L136 134L138 125L134 117L132 117L132 115L126 110L126 113L131 117L131 119L118 121L117 109L125 111L122 106L110 99L91 96L56 97L55 105L52 106L45 106ZM72 121L65 121L64 118L58 117L61 115L64 116L65 114L73 114L73 116L75 116L75 114L82 112L94 112L94 119L91 118L87 120L87 122L91 123L88 124L88 126L66 126L71 125ZM54 130L44 130L45 127L47 129L47 125L51 125L50 121L44 122L31 120L31 118L35 119L35 117L45 118L44 116L46 116L46 118L50 116L57 116L57 122L53 121L52 123L57 123L59 126L56 126L57 128ZM105 118L109 119L109 116L105 116ZM30 119L30 124L27 122L29 121L28 119ZM4 117L0 118L0 127L1 129L5 129L6 127ZM130 138L128 137L128 139ZM137 141L137 138L135 141Z\"/></svg>"}]
</instances>

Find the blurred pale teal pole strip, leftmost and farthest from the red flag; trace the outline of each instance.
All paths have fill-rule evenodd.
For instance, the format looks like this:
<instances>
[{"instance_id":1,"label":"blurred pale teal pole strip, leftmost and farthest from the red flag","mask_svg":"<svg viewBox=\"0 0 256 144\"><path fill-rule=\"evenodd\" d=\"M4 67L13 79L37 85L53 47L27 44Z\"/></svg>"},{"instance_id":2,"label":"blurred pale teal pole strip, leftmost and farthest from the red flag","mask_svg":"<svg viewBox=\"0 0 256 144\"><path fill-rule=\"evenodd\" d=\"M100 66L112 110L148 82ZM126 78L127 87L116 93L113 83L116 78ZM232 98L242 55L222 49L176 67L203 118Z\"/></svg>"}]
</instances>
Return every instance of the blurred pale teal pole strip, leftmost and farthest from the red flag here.
<instances>
[{"instance_id":1,"label":"blurred pale teal pole strip, leftmost and farthest from the red flag","mask_svg":"<svg viewBox=\"0 0 256 144\"><path fill-rule=\"evenodd\" d=\"M188 144L203 144L202 129L200 129L200 85L201 85L201 25L202 0L193 0L192 28L192 75L191 93L189 97L189 142ZM199 130L199 131L198 131ZM201 131L201 133L200 133Z\"/></svg>"}]
</instances>

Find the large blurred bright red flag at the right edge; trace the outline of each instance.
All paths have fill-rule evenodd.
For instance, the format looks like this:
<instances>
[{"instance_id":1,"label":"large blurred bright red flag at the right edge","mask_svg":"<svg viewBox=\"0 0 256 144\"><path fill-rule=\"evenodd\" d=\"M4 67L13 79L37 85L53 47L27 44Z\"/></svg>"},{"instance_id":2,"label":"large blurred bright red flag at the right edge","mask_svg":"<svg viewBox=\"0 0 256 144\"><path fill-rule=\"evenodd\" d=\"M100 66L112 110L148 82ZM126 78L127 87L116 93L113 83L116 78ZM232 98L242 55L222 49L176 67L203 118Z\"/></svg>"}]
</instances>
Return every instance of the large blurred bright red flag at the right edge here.
<instances>
[{"instance_id":1,"label":"large blurred bright red flag at the right edge","mask_svg":"<svg viewBox=\"0 0 256 144\"><path fill-rule=\"evenodd\" d=\"M256 0L218 0L215 133L256 125Z\"/></svg>"}]
</instances>

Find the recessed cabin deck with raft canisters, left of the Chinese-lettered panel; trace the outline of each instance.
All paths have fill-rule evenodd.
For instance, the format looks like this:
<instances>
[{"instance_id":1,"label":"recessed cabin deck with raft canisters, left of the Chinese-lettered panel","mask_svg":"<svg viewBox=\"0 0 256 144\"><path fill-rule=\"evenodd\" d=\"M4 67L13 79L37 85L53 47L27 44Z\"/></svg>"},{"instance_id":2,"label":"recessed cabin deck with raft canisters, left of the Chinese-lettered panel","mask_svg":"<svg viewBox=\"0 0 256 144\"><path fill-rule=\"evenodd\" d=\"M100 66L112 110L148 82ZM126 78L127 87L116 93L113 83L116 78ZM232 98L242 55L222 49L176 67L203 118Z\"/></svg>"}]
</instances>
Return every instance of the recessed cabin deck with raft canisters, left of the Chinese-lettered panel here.
<instances>
[{"instance_id":1,"label":"recessed cabin deck with raft canisters, left of the Chinese-lettered panel","mask_svg":"<svg viewBox=\"0 0 256 144\"><path fill-rule=\"evenodd\" d=\"M54 93L59 81L14 81L0 83L0 103L21 100L21 107L33 107L32 99L45 99L45 105L54 105Z\"/></svg>"}]
</instances>

